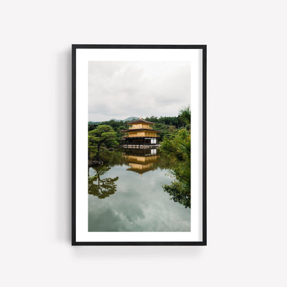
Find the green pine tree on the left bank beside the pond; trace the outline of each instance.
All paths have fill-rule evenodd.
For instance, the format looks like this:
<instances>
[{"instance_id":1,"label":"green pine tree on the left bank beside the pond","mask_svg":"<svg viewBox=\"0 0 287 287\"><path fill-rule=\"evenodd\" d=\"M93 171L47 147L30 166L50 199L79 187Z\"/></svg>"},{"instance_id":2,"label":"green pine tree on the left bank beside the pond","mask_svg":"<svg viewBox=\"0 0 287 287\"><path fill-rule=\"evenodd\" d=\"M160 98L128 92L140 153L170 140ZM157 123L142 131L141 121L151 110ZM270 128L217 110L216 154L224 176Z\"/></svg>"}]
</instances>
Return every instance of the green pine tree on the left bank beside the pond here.
<instances>
[{"instance_id":1,"label":"green pine tree on the left bank beside the pond","mask_svg":"<svg viewBox=\"0 0 287 287\"><path fill-rule=\"evenodd\" d=\"M117 132L111 126L101 125L97 126L95 130L88 132L88 156L92 159L93 155L99 159L99 152L102 146L106 148L113 148L118 146Z\"/></svg>"}]
</instances>

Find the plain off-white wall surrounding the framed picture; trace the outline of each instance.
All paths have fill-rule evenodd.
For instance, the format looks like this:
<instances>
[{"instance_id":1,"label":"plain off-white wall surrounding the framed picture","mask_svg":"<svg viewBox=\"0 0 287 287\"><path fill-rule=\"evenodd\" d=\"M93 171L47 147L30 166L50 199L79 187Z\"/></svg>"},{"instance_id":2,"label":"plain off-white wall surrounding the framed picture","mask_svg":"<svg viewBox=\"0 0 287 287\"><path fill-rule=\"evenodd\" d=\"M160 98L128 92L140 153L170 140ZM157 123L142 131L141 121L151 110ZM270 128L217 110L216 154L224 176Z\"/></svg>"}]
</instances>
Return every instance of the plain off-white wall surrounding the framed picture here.
<instances>
[{"instance_id":1,"label":"plain off-white wall surrounding the framed picture","mask_svg":"<svg viewBox=\"0 0 287 287\"><path fill-rule=\"evenodd\" d=\"M2 1L1 286L286 286L286 1ZM72 43L208 45L208 246L70 246Z\"/></svg>"}]
</instances>

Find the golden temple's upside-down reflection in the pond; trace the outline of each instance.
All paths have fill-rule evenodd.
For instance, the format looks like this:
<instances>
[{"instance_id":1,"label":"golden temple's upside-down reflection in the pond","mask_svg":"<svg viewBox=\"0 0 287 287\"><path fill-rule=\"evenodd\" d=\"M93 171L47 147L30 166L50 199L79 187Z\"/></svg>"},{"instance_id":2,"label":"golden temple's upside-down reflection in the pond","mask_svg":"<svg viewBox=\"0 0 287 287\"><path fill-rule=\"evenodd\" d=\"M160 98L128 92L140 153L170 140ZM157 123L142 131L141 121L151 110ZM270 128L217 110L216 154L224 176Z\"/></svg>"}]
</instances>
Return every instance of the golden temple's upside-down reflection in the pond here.
<instances>
[{"instance_id":1,"label":"golden temple's upside-down reflection in the pond","mask_svg":"<svg viewBox=\"0 0 287 287\"><path fill-rule=\"evenodd\" d=\"M122 152L122 161L130 166L127 170L142 175L149 170L155 170L153 164L159 161L159 155L157 155L156 148L126 148Z\"/></svg>"}]
</instances>

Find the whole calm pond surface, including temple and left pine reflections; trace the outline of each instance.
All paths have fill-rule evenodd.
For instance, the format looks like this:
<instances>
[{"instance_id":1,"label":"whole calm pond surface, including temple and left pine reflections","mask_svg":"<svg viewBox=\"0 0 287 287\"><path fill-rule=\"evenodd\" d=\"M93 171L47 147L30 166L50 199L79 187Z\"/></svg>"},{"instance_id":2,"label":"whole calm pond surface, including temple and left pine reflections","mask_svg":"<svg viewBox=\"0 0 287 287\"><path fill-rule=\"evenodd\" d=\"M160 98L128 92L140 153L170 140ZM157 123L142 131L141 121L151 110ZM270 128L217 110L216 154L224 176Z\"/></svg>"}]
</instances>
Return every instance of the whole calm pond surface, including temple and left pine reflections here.
<instances>
[{"instance_id":1,"label":"whole calm pond surface, including temple and left pine reflections","mask_svg":"<svg viewBox=\"0 0 287 287\"><path fill-rule=\"evenodd\" d=\"M89 168L90 232L190 231L190 208L162 188L172 179L157 150L123 150L105 163Z\"/></svg>"}]
</instances>

